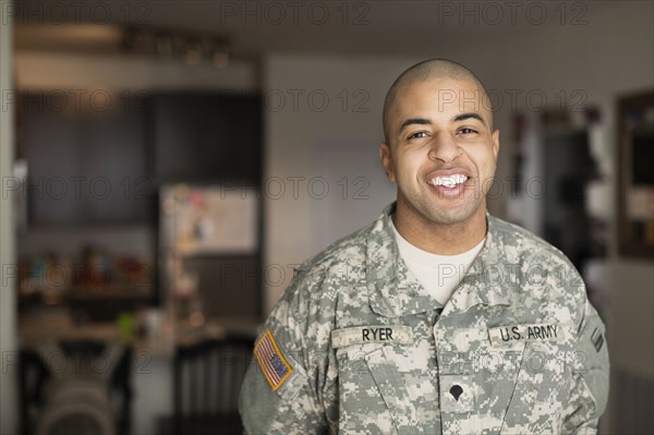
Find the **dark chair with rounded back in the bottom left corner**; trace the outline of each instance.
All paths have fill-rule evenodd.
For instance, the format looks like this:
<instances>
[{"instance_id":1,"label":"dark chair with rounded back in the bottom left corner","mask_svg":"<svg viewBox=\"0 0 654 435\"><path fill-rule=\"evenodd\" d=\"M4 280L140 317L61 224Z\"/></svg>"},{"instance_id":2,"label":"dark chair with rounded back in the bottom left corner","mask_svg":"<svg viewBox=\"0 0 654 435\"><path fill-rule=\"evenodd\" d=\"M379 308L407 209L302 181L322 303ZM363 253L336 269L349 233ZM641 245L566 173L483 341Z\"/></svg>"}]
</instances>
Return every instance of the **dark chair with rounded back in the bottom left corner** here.
<instances>
[{"instance_id":1,"label":"dark chair with rounded back in the bottom left corner","mask_svg":"<svg viewBox=\"0 0 654 435\"><path fill-rule=\"evenodd\" d=\"M21 432L128 434L131 354L130 347L94 340L21 350Z\"/></svg>"}]
</instances>

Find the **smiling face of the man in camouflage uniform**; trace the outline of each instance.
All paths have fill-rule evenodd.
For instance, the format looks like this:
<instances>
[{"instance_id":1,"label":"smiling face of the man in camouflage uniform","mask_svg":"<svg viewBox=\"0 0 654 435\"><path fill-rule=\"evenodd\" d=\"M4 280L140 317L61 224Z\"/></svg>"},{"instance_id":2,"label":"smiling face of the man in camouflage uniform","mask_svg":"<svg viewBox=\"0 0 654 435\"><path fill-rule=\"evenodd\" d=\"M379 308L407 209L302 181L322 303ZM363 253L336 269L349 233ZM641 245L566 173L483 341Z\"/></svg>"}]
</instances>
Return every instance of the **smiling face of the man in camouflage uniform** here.
<instances>
[{"instance_id":1,"label":"smiling face of the man in camouflage uniform","mask_svg":"<svg viewBox=\"0 0 654 435\"><path fill-rule=\"evenodd\" d=\"M479 84L432 78L400 85L379 155L398 183L397 213L408 223L452 225L486 213L499 132Z\"/></svg>"}]
</instances>

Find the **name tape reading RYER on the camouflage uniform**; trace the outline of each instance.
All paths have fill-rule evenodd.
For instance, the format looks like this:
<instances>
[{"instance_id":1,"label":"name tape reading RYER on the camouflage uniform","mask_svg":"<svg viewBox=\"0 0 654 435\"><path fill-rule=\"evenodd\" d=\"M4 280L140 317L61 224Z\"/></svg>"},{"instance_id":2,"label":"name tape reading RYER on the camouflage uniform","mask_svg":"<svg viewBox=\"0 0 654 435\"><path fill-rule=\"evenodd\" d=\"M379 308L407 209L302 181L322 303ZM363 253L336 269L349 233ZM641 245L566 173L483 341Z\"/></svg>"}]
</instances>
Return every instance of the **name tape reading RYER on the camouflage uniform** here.
<instances>
[{"instance_id":1,"label":"name tape reading RYER on the camouflage uniform","mask_svg":"<svg viewBox=\"0 0 654 435\"><path fill-rule=\"evenodd\" d=\"M411 345L413 342L413 330L405 325L366 325L331 331L331 347L334 349L368 342Z\"/></svg>"}]
</instances>

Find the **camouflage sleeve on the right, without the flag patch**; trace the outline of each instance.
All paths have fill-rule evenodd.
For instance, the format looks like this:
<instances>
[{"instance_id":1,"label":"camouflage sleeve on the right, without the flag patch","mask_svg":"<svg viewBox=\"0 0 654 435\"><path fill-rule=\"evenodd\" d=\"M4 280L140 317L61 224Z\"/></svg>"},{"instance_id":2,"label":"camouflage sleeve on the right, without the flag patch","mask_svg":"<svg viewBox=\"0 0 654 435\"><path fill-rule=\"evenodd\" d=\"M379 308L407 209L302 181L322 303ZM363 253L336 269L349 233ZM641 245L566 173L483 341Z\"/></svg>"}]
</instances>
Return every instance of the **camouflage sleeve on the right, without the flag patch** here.
<instances>
[{"instance_id":1,"label":"camouflage sleeve on the right, without the flag patch","mask_svg":"<svg viewBox=\"0 0 654 435\"><path fill-rule=\"evenodd\" d=\"M609 362L604 323L588 299L572 358L572 390L562 432L595 434L608 399Z\"/></svg>"}]
</instances>

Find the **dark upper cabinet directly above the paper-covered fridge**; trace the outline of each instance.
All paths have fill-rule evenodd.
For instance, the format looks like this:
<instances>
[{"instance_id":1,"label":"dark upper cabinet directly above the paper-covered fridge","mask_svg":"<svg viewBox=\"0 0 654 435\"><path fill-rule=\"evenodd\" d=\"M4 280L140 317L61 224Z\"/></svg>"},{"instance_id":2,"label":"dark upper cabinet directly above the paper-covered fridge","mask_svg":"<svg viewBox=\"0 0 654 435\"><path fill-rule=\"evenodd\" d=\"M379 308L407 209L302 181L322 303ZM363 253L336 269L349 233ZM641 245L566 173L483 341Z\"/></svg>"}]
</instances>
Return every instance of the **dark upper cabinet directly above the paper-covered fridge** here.
<instances>
[{"instance_id":1,"label":"dark upper cabinet directly above the paper-covered fridge","mask_svg":"<svg viewBox=\"0 0 654 435\"><path fill-rule=\"evenodd\" d=\"M261 181L261 108L258 94L156 95L153 133L157 181Z\"/></svg>"}]
</instances>

